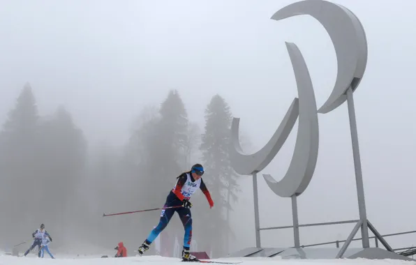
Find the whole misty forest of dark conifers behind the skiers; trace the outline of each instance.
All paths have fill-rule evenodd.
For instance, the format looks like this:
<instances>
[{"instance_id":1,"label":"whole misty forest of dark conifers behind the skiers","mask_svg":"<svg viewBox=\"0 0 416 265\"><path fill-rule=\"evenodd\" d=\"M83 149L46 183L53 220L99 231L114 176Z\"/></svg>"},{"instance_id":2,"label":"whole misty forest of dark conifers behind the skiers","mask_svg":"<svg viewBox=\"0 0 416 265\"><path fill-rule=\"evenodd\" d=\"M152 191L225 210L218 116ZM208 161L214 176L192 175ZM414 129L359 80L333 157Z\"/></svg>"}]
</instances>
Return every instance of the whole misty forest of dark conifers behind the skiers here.
<instances>
[{"instance_id":1,"label":"whole misty forest of dark conifers behind the skiers","mask_svg":"<svg viewBox=\"0 0 416 265\"><path fill-rule=\"evenodd\" d=\"M124 241L133 254L160 211L105 218L103 213L163 206L176 176L200 162L214 207L209 209L202 192L191 199L193 241L213 257L226 255L233 237L228 216L239 197L227 151L232 111L219 95L201 107L205 128L188 120L179 91L171 90L160 105L142 107L123 146L91 146L68 109L40 116L36 88L24 85L0 132L0 202L6 213L0 216L6 227L0 243L30 240L45 223L54 248L76 242L111 249ZM184 229L176 214L163 233L181 243ZM222 240L212 244L213 238Z\"/></svg>"}]
</instances>

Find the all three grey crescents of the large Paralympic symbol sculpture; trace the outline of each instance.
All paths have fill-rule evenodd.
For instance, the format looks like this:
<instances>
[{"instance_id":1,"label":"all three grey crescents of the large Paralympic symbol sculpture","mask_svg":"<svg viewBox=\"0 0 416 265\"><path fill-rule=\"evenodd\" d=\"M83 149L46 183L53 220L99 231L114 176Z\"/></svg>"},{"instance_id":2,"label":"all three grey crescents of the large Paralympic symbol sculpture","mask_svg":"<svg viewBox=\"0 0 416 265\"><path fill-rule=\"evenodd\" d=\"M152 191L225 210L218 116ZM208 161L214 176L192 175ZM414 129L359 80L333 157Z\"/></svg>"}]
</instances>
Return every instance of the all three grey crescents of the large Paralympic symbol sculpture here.
<instances>
[{"instance_id":1,"label":"all three grey crescents of the large Paralympic symbol sculpture","mask_svg":"<svg viewBox=\"0 0 416 265\"><path fill-rule=\"evenodd\" d=\"M347 8L323 0L304 0L278 10L272 20L283 20L295 15L315 17L325 27L334 44L338 73L331 95L317 111L311 78L302 53L295 44L286 43L295 71L299 102L295 98L272 139L252 155L244 154L239 146L239 119L232 121L231 164L237 173L246 175L260 172L272 161L299 116L295 152L288 172L278 182L270 175L263 175L267 185L281 197L300 195L306 189L318 158L318 112L331 112L346 101L346 91L349 88L352 91L357 89L367 62L364 29L358 18Z\"/></svg>"}]
</instances>

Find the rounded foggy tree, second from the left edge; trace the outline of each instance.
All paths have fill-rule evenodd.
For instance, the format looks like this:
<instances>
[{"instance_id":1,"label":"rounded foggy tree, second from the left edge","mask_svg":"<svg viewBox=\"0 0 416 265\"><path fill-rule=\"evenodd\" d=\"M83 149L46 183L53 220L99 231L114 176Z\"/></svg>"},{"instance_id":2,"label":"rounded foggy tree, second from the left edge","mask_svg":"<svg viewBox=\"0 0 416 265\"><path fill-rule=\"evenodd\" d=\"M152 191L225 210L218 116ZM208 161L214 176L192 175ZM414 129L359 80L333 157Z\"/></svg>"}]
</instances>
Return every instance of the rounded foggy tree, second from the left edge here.
<instances>
[{"instance_id":1,"label":"rounded foggy tree, second from the left edge","mask_svg":"<svg viewBox=\"0 0 416 265\"><path fill-rule=\"evenodd\" d=\"M65 234L69 237L70 226L76 225L74 216L79 216L75 211L80 213L82 210L74 202L82 195L77 188L82 186L87 142L64 107L59 107L52 116L43 117L39 132L37 165L42 185L38 199L43 206L35 216L46 219L45 222L50 220L51 231L66 227L61 238Z\"/></svg>"}]
</instances>

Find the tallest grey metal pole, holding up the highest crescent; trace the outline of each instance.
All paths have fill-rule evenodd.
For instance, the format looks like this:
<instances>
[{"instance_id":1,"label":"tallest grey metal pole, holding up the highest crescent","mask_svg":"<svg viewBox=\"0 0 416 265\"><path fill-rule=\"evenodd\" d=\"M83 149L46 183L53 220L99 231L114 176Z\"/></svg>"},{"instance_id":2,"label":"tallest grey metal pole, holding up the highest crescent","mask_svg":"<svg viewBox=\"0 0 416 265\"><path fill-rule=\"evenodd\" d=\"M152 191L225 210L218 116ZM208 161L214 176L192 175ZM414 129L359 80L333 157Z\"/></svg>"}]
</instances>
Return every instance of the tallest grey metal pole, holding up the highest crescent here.
<instances>
[{"instance_id":1,"label":"tallest grey metal pole, holding up the highest crescent","mask_svg":"<svg viewBox=\"0 0 416 265\"><path fill-rule=\"evenodd\" d=\"M361 158L359 156L357 120L355 119L354 98L352 96L351 86L347 89L347 103L348 103L348 116L350 117L352 156L354 157L354 167L355 167L355 181L357 183L359 219L362 221L362 225L361 225L362 247L369 248L370 247L369 229L367 226L367 213L366 213L366 202L364 199L364 184L362 181Z\"/></svg>"}]
</instances>

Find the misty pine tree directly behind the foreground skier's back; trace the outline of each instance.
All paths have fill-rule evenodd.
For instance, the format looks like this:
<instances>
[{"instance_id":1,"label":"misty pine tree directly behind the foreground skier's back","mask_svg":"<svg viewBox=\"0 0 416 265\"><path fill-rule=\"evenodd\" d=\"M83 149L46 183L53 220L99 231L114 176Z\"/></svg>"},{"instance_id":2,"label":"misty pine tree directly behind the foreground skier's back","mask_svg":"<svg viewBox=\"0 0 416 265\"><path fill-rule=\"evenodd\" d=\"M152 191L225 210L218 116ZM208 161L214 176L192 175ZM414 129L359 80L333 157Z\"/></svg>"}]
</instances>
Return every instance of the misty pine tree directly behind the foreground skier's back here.
<instances>
[{"instance_id":1,"label":"misty pine tree directly behind the foreground skier's back","mask_svg":"<svg viewBox=\"0 0 416 265\"><path fill-rule=\"evenodd\" d=\"M178 91L169 91L157 114L153 110L147 108L142 112L126 149L131 157L124 159L131 174L137 171L129 183L137 187L135 198L142 209L163 206L168 192L177 181L176 176L187 169L188 115ZM144 240L157 225L160 213L140 215L138 218ZM172 218L164 233L172 231L181 231L177 218Z\"/></svg>"}]
</instances>

